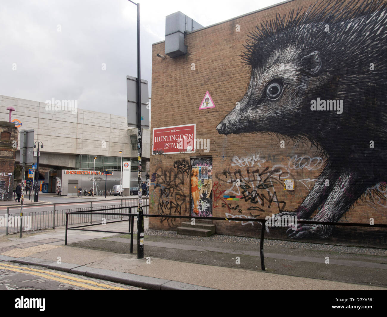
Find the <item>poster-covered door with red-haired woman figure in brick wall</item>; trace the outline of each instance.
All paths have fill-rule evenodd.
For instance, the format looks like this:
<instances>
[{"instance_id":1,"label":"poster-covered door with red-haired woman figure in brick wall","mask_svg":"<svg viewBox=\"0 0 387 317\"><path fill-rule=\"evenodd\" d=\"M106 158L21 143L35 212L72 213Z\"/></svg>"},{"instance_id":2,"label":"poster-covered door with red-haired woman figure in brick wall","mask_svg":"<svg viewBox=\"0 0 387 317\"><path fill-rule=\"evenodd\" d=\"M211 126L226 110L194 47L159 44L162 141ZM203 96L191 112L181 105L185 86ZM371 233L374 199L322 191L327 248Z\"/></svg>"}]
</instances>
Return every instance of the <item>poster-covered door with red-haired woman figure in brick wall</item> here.
<instances>
[{"instance_id":1,"label":"poster-covered door with red-haired woman figure in brick wall","mask_svg":"<svg viewBox=\"0 0 387 317\"><path fill-rule=\"evenodd\" d=\"M191 159L191 216L212 217L212 158Z\"/></svg>"}]
</instances>

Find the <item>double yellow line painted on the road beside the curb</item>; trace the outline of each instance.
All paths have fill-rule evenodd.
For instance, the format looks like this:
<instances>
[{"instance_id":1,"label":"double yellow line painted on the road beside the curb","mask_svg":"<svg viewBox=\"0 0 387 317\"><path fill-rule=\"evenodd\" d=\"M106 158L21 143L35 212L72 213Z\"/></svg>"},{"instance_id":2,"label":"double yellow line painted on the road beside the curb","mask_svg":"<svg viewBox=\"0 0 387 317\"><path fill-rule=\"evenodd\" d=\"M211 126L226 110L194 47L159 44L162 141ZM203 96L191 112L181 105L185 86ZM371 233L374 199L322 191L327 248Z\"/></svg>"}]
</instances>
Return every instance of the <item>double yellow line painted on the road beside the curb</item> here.
<instances>
[{"instance_id":1,"label":"double yellow line painted on the road beside the curb","mask_svg":"<svg viewBox=\"0 0 387 317\"><path fill-rule=\"evenodd\" d=\"M107 285L107 284L97 283L94 281L88 281L87 279L74 278L72 276L67 276L67 275L63 275L63 274L59 274L59 273L55 273L55 272L48 272L48 271L43 271L43 270L38 270L38 269L31 269L31 268L25 267L25 266L15 266L15 265L2 263L0 265L0 269L36 275L36 276L40 276L41 278L52 279L53 281L58 281L61 283L66 283L66 284L70 284L70 285L88 288L89 290L98 290L98 291L104 290L103 288L96 287L96 286L111 288L113 290L119 290L119 291L127 291L128 290L128 289L122 288L122 287L116 287L116 286L111 286L111 285ZM55 276L58 276L58 277L55 277ZM65 278L65 279L63 279L63 278ZM68 281L68 280L71 280L71 281ZM87 284L83 284L83 283L92 284L92 285L96 285L96 286L91 286L91 285L87 285Z\"/></svg>"}]
</instances>

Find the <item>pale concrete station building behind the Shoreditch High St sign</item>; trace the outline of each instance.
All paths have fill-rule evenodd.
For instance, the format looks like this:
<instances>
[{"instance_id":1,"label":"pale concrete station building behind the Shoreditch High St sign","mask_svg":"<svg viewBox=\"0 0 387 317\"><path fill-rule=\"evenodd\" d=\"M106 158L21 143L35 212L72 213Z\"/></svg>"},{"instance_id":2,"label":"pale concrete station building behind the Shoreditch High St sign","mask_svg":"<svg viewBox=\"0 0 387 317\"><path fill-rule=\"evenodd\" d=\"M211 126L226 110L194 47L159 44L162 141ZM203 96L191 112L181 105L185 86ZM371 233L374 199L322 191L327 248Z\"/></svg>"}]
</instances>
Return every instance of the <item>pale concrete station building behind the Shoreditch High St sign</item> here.
<instances>
[{"instance_id":1,"label":"pale concrete station building behind the Shoreditch High St sign","mask_svg":"<svg viewBox=\"0 0 387 317\"><path fill-rule=\"evenodd\" d=\"M11 116L18 130L33 129L35 141L43 142L44 147L39 158L39 179L48 184L49 192L55 192L57 178L62 178L62 170L92 171L94 156L97 156L95 170L113 171L113 176L108 178L114 185L119 185L119 151L123 152L123 161L131 161L130 178L134 187L137 185L137 129L128 128L127 117L75 110L70 106L55 109L45 102L0 95L0 113L3 120L9 117L9 106L15 108ZM150 130L144 129L142 171L149 169L149 140ZM19 163L20 135L17 141L16 164ZM28 167L31 168L26 168ZM142 174L146 180L147 173ZM84 183L87 189L91 186L92 182ZM67 183L62 183L62 195L67 192Z\"/></svg>"}]
</instances>

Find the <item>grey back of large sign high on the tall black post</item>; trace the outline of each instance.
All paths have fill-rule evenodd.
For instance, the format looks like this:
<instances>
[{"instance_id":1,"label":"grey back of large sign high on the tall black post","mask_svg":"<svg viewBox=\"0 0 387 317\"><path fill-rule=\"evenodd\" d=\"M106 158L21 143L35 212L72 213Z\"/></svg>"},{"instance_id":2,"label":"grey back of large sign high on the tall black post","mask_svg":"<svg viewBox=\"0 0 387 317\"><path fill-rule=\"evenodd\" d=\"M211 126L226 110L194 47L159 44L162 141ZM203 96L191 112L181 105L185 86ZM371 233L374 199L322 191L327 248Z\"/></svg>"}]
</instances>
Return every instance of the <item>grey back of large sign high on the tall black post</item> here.
<instances>
[{"instance_id":1,"label":"grey back of large sign high on the tall black post","mask_svg":"<svg viewBox=\"0 0 387 317\"><path fill-rule=\"evenodd\" d=\"M137 77L126 76L128 127L137 128ZM141 79L141 127L149 129L148 81Z\"/></svg>"}]
</instances>

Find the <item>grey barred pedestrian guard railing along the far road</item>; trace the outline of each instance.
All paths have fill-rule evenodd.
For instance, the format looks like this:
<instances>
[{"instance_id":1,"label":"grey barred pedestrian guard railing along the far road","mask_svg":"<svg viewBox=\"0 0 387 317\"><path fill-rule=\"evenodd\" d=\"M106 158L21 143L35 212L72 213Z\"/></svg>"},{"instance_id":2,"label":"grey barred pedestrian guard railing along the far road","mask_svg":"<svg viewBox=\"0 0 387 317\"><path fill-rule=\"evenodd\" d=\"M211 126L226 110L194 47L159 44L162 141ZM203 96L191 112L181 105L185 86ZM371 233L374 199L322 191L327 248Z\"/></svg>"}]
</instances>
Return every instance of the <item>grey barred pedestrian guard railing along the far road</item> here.
<instances>
[{"instance_id":1,"label":"grey barred pedestrian guard railing along the far road","mask_svg":"<svg viewBox=\"0 0 387 317\"><path fill-rule=\"evenodd\" d=\"M110 204L104 206L95 206L96 203L103 202L112 202L119 201L117 204ZM149 202L149 198L143 198L146 203ZM86 211L96 211L96 210L111 210L111 214L107 214L106 220L117 219L114 211L118 209L125 209L127 207L137 207L138 206L138 198L121 198L121 199L106 199L106 200L92 200L81 202L80 204L88 203L90 206L80 207L80 208L69 208L69 209L61 209L61 205L71 204L69 202L57 203L57 204L38 204L33 207L52 207L50 210L46 211L24 211L23 218L20 217L20 206L15 207L7 207L7 214L5 222L7 224L5 228L5 234L9 235L12 233L20 232L20 222L22 221L22 231L33 231L33 230L41 230L41 229L55 229L56 227L65 226L66 222L66 212L80 212L80 214L74 214L69 220L70 224L81 224L81 223L90 223L93 224L96 221L101 221L101 217L94 217L92 214L84 214ZM94 203L94 206L93 206ZM10 212L11 209L19 209L18 212ZM26 210L26 209L24 209ZM149 212L149 207L144 208L144 213ZM27 218L26 218L27 217ZM121 220L122 217L118 217ZM9 226L10 224L10 226Z\"/></svg>"}]
</instances>

